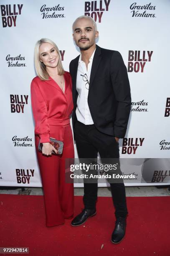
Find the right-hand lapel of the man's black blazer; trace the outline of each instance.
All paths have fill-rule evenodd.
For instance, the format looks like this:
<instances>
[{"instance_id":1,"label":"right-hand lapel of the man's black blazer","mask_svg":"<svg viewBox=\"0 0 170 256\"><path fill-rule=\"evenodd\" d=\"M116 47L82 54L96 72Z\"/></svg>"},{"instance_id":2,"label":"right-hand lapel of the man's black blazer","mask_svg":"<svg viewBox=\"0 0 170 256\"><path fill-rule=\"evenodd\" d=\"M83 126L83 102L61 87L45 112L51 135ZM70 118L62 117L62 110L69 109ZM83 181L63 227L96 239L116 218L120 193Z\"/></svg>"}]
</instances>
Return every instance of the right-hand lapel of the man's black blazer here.
<instances>
[{"instance_id":1,"label":"right-hand lapel of the man's black blazer","mask_svg":"<svg viewBox=\"0 0 170 256\"><path fill-rule=\"evenodd\" d=\"M93 83L93 80L94 80L94 77L96 75L97 69L99 67L100 61L101 61L101 47L96 45L96 51L94 53L93 63L92 63L92 66L91 66L89 90L91 88L91 84Z\"/></svg>"}]
</instances>

